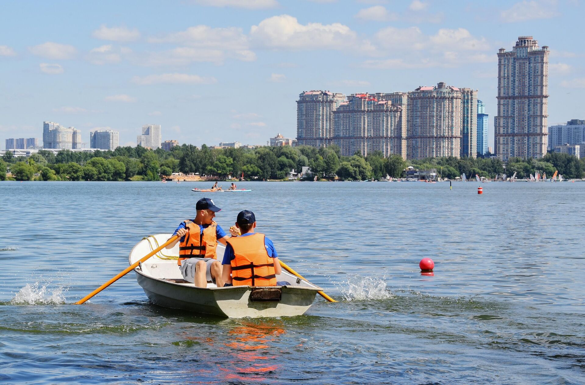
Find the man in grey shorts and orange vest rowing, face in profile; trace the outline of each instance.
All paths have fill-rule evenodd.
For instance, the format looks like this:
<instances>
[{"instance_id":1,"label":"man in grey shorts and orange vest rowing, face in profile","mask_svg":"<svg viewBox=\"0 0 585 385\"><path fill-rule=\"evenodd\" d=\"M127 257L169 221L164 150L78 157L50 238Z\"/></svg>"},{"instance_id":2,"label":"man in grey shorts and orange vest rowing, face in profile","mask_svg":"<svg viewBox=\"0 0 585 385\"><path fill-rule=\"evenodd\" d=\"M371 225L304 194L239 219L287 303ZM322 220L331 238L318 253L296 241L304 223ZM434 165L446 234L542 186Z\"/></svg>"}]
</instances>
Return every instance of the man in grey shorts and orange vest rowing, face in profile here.
<instances>
[{"instance_id":1,"label":"man in grey shorts and orange vest rowing, face in profile","mask_svg":"<svg viewBox=\"0 0 585 385\"><path fill-rule=\"evenodd\" d=\"M195 205L197 216L193 220L183 221L173 235L180 238L167 245L171 249L177 242L179 244L179 258L183 278L193 282L197 287L207 287L208 282L223 286L222 265L216 255L218 242L225 245L229 236L223 228L215 223L215 213L221 209L215 206L213 200L201 198ZM232 235L237 235L230 230Z\"/></svg>"}]
</instances>

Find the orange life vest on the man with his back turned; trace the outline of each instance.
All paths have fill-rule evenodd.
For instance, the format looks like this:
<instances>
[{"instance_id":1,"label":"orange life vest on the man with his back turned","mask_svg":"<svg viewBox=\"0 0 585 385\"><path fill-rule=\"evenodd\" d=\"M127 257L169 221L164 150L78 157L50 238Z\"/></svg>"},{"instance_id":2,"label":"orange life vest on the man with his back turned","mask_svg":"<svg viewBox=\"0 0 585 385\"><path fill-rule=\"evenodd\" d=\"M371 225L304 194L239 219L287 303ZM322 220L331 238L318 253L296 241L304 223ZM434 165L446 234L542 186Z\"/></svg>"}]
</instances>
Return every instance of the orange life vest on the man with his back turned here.
<instances>
[{"instance_id":1,"label":"orange life vest on the man with his back turned","mask_svg":"<svg viewBox=\"0 0 585 385\"><path fill-rule=\"evenodd\" d=\"M265 237L255 233L229 238L235 255L231 262L233 286L276 286L274 261L266 251Z\"/></svg>"}]
</instances>

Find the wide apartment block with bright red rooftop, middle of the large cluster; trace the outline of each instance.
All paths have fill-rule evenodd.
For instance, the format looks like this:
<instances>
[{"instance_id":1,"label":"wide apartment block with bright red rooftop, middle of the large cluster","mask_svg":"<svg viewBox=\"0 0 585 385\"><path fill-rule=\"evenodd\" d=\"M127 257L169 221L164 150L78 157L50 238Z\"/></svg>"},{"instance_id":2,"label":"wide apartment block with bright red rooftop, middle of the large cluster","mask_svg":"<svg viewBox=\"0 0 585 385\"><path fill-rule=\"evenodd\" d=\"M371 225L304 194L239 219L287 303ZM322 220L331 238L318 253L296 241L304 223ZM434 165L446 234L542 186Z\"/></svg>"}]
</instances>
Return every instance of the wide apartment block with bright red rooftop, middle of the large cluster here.
<instances>
[{"instance_id":1,"label":"wide apartment block with bright red rooftop, middle of the large cluster","mask_svg":"<svg viewBox=\"0 0 585 385\"><path fill-rule=\"evenodd\" d=\"M347 96L347 102L333 112L333 143L346 156L356 151L364 156L373 151L381 151L384 157L401 154L401 112L402 107L369 93Z\"/></svg>"}]
</instances>

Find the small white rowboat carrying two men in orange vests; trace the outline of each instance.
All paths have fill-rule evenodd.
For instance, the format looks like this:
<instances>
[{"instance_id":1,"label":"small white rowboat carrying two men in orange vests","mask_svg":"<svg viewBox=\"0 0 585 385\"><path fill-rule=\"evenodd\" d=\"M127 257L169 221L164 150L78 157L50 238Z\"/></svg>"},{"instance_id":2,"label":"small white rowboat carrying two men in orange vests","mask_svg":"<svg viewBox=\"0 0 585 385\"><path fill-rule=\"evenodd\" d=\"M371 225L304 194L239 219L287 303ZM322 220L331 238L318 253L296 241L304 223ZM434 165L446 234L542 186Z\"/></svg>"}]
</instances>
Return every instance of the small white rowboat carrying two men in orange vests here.
<instances>
[{"instance_id":1,"label":"small white rowboat carrying two men in orange vests","mask_svg":"<svg viewBox=\"0 0 585 385\"><path fill-rule=\"evenodd\" d=\"M171 234L155 234L143 238L130 251L128 262L132 265L139 261L170 237ZM218 255L223 255L224 250L218 244ZM163 249L134 269L138 284L152 303L230 318L281 317L304 314L317 292L323 290L284 269L276 279L290 282L290 286L216 287L208 283L206 288L196 287L183 279L177 258L178 244L173 249Z\"/></svg>"}]
</instances>

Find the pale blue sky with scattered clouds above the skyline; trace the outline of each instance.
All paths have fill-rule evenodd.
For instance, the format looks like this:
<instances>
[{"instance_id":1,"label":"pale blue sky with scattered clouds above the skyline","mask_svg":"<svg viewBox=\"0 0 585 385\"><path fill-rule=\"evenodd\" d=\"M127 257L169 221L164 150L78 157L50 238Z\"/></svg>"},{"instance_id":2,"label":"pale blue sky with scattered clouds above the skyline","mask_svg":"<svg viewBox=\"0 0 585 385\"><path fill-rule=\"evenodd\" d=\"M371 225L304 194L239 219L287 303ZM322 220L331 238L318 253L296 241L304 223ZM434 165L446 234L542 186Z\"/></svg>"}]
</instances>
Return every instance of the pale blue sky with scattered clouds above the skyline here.
<instances>
[{"instance_id":1,"label":"pale blue sky with scattered clouds above the skyline","mask_svg":"<svg viewBox=\"0 0 585 385\"><path fill-rule=\"evenodd\" d=\"M296 137L298 95L479 90L489 117L498 48L549 46L549 126L585 119L577 0L183 0L2 2L0 147L43 121L163 140L266 144Z\"/></svg>"}]
</instances>

